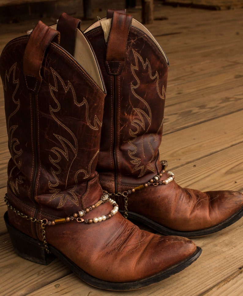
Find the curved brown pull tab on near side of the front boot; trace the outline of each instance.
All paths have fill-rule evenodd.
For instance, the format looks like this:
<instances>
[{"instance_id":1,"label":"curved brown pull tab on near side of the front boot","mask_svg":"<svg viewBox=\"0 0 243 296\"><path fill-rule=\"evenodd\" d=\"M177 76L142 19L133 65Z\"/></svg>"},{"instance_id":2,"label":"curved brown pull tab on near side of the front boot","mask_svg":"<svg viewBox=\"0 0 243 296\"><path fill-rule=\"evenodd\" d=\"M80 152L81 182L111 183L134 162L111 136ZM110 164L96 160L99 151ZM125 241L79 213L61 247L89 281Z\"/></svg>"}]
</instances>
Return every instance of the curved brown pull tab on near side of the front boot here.
<instances>
[{"instance_id":1,"label":"curved brown pull tab on near side of the front boot","mask_svg":"<svg viewBox=\"0 0 243 296\"><path fill-rule=\"evenodd\" d=\"M54 39L55 38L55 39ZM23 57L23 72L27 89L38 93L42 82L40 69L51 41L59 44L60 33L39 21L29 36Z\"/></svg>"}]
</instances>

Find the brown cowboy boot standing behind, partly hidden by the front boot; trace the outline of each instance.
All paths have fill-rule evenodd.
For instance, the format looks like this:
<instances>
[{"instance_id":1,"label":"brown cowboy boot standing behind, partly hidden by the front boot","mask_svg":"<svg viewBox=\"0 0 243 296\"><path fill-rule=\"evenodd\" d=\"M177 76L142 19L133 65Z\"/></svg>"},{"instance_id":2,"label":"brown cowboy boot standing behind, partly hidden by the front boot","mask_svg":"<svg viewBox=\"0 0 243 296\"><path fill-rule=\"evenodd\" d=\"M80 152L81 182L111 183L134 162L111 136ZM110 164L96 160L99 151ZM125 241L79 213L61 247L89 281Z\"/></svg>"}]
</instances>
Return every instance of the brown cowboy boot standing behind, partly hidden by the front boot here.
<instances>
[{"instance_id":1,"label":"brown cowboy boot standing behind, partly hidden by the front boot","mask_svg":"<svg viewBox=\"0 0 243 296\"><path fill-rule=\"evenodd\" d=\"M163 234L197 237L236 222L243 215L241 193L181 188L165 172L158 148L168 59L138 21L107 13L84 32L107 87L97 165L102 188L118 195L125 217L128 211Z\"/></svg>"}]
</instances>

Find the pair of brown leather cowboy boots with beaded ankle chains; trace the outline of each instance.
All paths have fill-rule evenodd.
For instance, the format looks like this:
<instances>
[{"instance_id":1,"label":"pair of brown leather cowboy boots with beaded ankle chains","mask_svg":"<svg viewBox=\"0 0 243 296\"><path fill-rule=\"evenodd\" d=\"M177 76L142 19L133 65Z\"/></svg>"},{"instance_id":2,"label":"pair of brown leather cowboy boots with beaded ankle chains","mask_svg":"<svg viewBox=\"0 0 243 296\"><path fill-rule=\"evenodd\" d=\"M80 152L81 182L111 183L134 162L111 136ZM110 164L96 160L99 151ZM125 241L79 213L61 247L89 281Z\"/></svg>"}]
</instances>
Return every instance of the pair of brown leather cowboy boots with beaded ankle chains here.
<instances>
[{"instance_id":1,"label":"pair of brown leather cowboy boots with beaded ankle chains","mask_svg":"<svg viewBox=\"0 0 243 296\"><path fill-rule=\"evenodd\" d=\"M138 289L193 263L201 249L184 237L234 223L243 198L183 189L159 161L168 59L151 33L125 11L84 34L79 24L39 22L2 52L6 226L26 259L58 257L95 287Z\"/></svg>"}]
</instances>

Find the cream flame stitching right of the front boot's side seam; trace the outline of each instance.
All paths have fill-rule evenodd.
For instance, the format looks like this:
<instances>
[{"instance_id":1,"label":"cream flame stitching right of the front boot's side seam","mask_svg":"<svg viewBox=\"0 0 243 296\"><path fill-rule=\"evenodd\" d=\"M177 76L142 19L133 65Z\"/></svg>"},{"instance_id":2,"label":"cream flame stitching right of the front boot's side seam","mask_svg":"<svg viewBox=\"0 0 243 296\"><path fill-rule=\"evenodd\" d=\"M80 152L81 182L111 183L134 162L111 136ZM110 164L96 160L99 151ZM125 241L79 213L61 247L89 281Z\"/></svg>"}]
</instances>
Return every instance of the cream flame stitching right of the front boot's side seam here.
<instances>
[{"instance_id":1,"label":"cream flame stitching right of the front boot's side seam","mask_svg":"<svg viewBox=\"0 0 243 296\"><path fill-rule=\"evenodd\" d=\"M69 140L65 139L61 135L54 134L56 139L58 139L58 141L61 143L62 149L60 147L53 147L51 149L51 152L54 153L54 155L56 156L56 159L54 159L53 157L51 157L49 155L50 163L55 168L55 169L51 168L51 172L52 172L53 176L56 179L55 184L52 184L50 181L48 183L49 188L50 188L50 192L53 193L53 195L50 198L50 201L53 200L53 199L60 198L60 202L59 202L59 205L58 205L58 208L60 208L60 207L64 206L64 204L67 202L67 200L71 200L76 205L79 204L79 200L77 198L77 195L75 194L75 190L76 190L77 185L78 185L77 176L81 172L84 173L84 179L88 178L91 175L91 165L92 165L92 162L94 161L95 157L99 153L99 151L97 151L95 153L94 157L92 157L92 159L90 161L90 164L88 166L88 172L86 170L84 170L84 169L78 170L76 172L75 177L74 177L75 185L73 186L72 189L70 189L70 192L71 192L72 196L69 195L69 194L64 195L64 193L61 193L61 189L58 188L58 185L60 184L60 180L58 179L58 174L62 172L62 169L58 165L58 163L61 161L62 156L66 159L67 162L69 162L69 165L68 165L69 169L67 170L66 180L65 180L65 183L66 183L65 188L67 188L68 187L69 172L70 172L70 169L71 169L71 167L73 165L73 162L75 161L75 159L77 157L77 153L78 153L78 141L77 141L77 138L75 137L74 133L67 126L65 126L60 120L58 120L58 118L54 114L54 113L58 112L61 109L61 104L59 103L58 99L54 95L54 91L58 92L58 81L62 84L62 87L63 87L65 93L67 93L69 90L71 91L75 104L77 104L78 106L82 106L82 105L85 104L85 106L86 106L86 119L87 119L88 126L90 128L92 128L92 129L96 129L96 128L98 128L97 127L98 121L96 121L96 118L95 118L94 126L92 126L90 124L90 122L88 120L88 103L85 103L87 101L84 99L84 101L81 104L78 104L77 103L76 93L75 93L75 90L73 88L73 85L69 81L68 81L68 84L65 85L65 82L63 81L61 76L55 70L51 69L51 71L52 71L53 78L54 78L54 86L49 85L49 89L50 89L50 94L51 94L52 98L54 99L55 103L57 104L57 108L54 109L54 108L52 108L50 106L50 114L54 118L54 120L58 124L60 124L65 129L65 131L68 132L69 135L71 135L71 138L73 139L73 143L71 143ZM97 120L98 120L98 118L97 118ZM68 149L67 147L71 148L71 150ZM70 156L70 154L71 154L70 151L72 152L71 156Z\"/></svg>"}]
</instances>

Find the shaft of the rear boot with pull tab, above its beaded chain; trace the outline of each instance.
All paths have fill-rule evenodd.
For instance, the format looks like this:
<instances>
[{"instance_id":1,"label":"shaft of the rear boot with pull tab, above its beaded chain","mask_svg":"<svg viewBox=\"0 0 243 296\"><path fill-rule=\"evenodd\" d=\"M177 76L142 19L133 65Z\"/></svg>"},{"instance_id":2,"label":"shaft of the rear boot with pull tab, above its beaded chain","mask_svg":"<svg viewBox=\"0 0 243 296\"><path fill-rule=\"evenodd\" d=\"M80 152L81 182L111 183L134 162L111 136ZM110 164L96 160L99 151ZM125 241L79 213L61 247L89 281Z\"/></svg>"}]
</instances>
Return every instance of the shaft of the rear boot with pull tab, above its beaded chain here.
<instances>
[{"instance_id":1,"label":"shaft of the rear boot with pull tab, above its beaded chain","mask_svg":"<svg viewBox=\"0 0 243 296\"><path fill-rule=\"evenodd\" d=\"M117 192L121 184L143 184L161 170L169 64L151 33L129 15L114 12L84 33L107 87L97 171L102 185Z\"/></svg>"}]
</instances>

